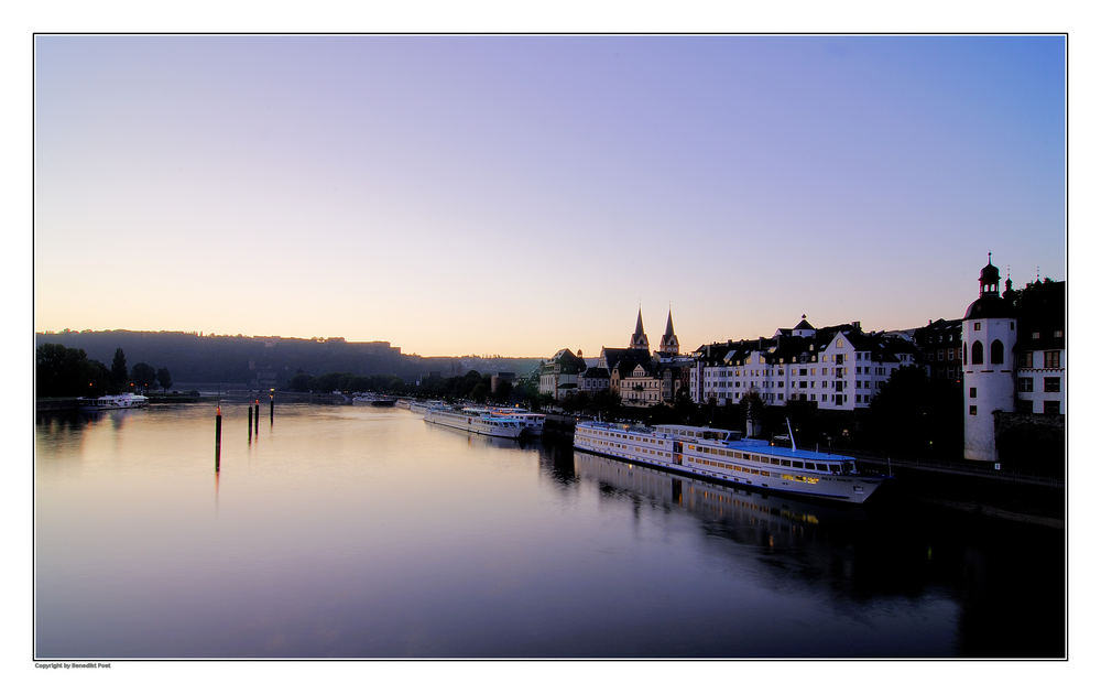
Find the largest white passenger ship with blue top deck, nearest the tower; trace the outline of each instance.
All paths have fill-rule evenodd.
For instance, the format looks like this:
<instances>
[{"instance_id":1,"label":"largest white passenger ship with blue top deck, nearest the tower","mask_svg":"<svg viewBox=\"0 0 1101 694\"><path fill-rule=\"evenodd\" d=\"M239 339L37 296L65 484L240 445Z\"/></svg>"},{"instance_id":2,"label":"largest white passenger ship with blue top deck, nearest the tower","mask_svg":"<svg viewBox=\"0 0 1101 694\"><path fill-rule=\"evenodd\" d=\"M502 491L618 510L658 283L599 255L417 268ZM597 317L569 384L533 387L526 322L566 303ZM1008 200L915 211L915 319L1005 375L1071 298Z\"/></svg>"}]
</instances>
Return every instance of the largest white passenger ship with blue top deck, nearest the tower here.
<instances>
[{"instance_id":1,"label":"largest white passenger ship with blue top deck, nearest the tower","mask_svg":"<svg viewBox=\"0 0 1101 694\"><path fill-rule=\"evenodd\" d=\"M774 446L706 426L579 422L574 447L756 489L863 503L885 479L848 456Z\"/></svg>"}]
</instances>

